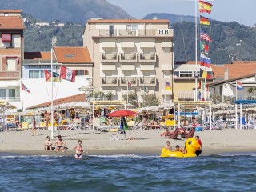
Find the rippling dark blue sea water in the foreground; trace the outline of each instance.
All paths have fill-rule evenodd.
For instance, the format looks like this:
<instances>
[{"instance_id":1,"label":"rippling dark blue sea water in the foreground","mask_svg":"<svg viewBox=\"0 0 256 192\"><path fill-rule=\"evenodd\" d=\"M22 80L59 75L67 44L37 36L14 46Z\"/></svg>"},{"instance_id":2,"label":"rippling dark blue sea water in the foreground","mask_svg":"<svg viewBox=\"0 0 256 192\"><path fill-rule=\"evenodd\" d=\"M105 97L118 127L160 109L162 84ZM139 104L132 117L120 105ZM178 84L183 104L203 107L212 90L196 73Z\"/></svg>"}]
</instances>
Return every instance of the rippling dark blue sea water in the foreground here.
<instances>
[{"instance_id":1,"label":"rippling dark blue sea water in the foreground","mask_svg":"<svg viewBox=\"0 0 256 192\"><path fill-rule=\"evenodd\" d=\"M256 191L256 155L0 154L0 191Z\"/></svg>"}]
</instances>

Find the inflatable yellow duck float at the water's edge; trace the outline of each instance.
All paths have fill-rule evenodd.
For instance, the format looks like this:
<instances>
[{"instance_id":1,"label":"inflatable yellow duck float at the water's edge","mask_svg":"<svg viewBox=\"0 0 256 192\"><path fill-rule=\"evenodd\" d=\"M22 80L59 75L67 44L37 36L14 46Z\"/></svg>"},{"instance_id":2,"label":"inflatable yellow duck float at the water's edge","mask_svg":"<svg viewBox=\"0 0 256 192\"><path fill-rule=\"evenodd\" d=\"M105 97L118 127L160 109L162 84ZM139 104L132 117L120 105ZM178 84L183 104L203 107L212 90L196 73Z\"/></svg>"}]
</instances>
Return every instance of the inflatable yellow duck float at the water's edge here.
<instances>
[{"instance_id":1,"label":"inflatable yellow duck float at the water's edge","mask_svg":"<svg viewBox=\"0 0 256 192\"><path fill-rule=\"evenodd\" d=\"M166 147L162 148L161 158L195 158L197 155L195 151L200 148L198 141L195 138L188 138L185 142L186 154L182 154L180 151L172 152L166 150Z\"/></svg>"}]
</instances>

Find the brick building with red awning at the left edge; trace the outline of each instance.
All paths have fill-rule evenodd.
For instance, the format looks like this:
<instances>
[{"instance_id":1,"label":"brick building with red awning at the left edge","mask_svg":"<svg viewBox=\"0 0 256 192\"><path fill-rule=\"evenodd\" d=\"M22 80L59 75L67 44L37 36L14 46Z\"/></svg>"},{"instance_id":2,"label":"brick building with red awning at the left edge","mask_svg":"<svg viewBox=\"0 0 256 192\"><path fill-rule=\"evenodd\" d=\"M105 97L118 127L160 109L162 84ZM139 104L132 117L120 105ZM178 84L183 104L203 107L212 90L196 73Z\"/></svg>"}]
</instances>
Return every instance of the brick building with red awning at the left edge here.
<instances>
[{"instance_id":1,"label":"brick building with red awning at the left edge","mask_svg":"<svg viewBox=\"0 0 256 192\"><path fill-rule=\"evenodd\" d=\"M22 10L0 10L0 98L12 102L20 100L23 30Z\"/></svg>"}]
</instances>

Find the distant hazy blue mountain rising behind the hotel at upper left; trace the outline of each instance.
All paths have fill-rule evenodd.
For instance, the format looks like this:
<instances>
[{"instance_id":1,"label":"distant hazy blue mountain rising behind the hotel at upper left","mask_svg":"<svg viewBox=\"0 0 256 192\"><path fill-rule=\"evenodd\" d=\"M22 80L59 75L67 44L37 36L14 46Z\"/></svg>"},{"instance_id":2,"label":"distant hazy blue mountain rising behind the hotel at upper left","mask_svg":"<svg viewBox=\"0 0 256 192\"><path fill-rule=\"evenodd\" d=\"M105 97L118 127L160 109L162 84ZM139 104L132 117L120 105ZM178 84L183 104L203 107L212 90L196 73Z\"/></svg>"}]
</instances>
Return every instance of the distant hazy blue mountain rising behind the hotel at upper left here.
<instances>
[{"instance_id":1,"label":"distant hazy blue mountain rising behind the hotel at upper left","mask_svg":"<svg viewBox=\"0 0 256 192\"><path fill-rule=\"evenodd\" d=\"M106 0L2 0L1 9L19 9L46 22L56 19L85 24L89 18L131 18Z\"/></svg>"}]
</instances>

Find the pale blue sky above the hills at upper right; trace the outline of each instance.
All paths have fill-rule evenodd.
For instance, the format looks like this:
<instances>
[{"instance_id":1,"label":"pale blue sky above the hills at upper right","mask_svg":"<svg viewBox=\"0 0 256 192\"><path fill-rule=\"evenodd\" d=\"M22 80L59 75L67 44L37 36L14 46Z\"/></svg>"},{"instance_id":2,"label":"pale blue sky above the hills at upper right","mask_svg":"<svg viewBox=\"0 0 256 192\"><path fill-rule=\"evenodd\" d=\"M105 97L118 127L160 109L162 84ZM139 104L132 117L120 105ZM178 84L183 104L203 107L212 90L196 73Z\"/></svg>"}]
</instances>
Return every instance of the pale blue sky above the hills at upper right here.
<instances>
[{"instance_id":1,"label":"pale blue sky above the hills at upper right","mask_svg":"<svg viewBox=\"0 0 256 192\"><path fill-rule=\"evenodd\" d=\"M120 6L134 18L150 13L194 15L194 0L107 0ZM256 23L256 0L204 0L213 4L211 14L204 14L222 22L239 22L246 26ZM171 21L170 21L171 22Z\"/></svg>"}]
</instances>

